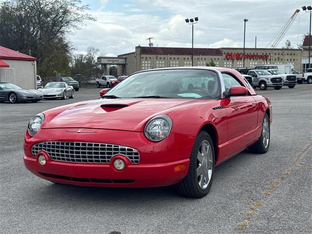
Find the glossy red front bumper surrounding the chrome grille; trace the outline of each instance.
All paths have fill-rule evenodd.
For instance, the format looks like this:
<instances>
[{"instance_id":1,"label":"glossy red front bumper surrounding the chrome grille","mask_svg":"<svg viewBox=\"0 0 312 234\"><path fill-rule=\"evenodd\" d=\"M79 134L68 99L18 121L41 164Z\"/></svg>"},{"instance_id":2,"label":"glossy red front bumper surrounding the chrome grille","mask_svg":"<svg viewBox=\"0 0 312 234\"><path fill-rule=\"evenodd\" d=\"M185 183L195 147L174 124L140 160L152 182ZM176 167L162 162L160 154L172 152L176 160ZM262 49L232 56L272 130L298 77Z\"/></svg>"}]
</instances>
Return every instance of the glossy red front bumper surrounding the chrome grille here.
<instances>
[{"instance_id":1,"label":"glossy red front bumper surrounding the chrome grille","mask_svg":"<svg viewBox=\"0 0 312 234\"><path fill-rule=\"evenodd\" d=\"M34 137L30 137L26 132L24 164L36 176L53 182L100 187L167 186L180 182L188 172L195 135L170 133L163 141L154 143L147 140L143 133L98 129L95 131L97 133L78 134L66 132L66 129L41 129ZM140 154L140 161L138 164L131 164L123 156L113 156L109 164L61 162L53 161L45 152L41 152L47 158L46 164L41 166L38 156L33 157L31 147L41 141L53 140L124 145L136 149ZM117 171L114 168L115 157L124 159L124 170ZM185 168L175 171L175 166L181 164L184 164Z\"/></svg>"}]
</instances>

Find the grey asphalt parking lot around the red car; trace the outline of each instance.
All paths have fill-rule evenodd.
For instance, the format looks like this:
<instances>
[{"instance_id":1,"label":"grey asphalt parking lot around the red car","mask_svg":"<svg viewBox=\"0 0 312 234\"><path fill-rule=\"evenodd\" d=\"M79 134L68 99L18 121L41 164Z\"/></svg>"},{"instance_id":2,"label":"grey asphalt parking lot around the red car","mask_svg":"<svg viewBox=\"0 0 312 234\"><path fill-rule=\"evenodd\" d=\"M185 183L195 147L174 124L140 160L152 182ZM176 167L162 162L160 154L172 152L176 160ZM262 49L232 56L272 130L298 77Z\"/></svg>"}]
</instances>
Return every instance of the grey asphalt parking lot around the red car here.
<instances>
[{"instance_id":1,"label":"grey asphalt parking lot around the red car","mask_svg":"<svg viewBox=\"0 0 312 234\"><path fill-rule=\"evenodd\" d=\"M244 151L216 167L201 199L172 188L117 189L53 184L28 172L23 137L29 119L49 108L98 98L0 104L0 223L5 234L261 233L312 230L312 85L259 91L273 103L270 150Z\"/></svg>"}]
</instances>

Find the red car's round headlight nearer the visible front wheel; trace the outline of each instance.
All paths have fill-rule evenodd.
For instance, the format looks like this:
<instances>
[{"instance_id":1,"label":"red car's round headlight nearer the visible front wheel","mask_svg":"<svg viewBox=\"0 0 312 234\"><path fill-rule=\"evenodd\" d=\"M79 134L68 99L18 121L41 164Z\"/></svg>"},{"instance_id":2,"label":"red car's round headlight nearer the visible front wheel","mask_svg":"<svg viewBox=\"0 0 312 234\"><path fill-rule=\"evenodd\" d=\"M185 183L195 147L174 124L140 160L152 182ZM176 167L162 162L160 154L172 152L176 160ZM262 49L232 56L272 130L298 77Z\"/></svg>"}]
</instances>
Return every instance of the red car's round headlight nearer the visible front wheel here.
<instances>
[{"instance_id":1,"label":"red car's round headlight nearer the visible front wheel","mask_svg":"<svg viewBox=\"0 0 312 234\"><path fill-rule=\"evenodd\" d=\"M160 141L169 135L171 128L171 118L166 115L159 115L148 121L144 133L149 140Z\"/></svg>"}]
</instances>

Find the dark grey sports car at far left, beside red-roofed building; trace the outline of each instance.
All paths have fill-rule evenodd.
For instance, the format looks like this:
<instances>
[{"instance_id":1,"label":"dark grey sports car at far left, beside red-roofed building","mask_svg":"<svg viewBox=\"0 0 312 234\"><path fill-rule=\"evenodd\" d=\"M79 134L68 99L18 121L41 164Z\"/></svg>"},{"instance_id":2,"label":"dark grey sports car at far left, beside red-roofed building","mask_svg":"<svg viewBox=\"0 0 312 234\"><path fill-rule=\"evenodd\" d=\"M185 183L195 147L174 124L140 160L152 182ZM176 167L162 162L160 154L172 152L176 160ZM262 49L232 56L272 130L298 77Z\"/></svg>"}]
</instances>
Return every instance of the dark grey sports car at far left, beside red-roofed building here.
<instances>
[{"instance_id":1,"label":"dark grey sports car at far left, beside red-roofed building","mask_svg":"<svg viewBox=\"0 0 312 234\"><path fill-rule=\"evenodd\" d=\"M35 89L22 89L12 83L0 82L0 101L18 102L37 102L42 100L43 95Z\"/></svg>"}]
</instances>

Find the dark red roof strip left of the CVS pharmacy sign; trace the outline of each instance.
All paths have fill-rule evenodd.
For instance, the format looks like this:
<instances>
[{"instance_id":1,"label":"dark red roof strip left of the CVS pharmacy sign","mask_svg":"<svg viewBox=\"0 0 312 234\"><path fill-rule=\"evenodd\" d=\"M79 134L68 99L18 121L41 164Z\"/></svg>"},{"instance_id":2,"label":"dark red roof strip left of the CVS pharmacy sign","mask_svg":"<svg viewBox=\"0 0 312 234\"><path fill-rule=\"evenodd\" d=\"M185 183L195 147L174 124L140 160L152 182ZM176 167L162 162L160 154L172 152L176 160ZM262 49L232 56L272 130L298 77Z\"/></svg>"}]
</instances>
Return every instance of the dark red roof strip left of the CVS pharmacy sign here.
<instances>
[{"instance_id":1,"label":"dark red roof strip left of the CVS pharmacy sign","mask_svg":"<svg viewBox=\"0 0 312 234\"><path fill-rule=\"evenodd\" d=\"M140 47L140 53L148 55L192 55L192 48ZM219 49L194 48L194 55L222 56L222 52Z\"/></svg>"}]
</instances>

